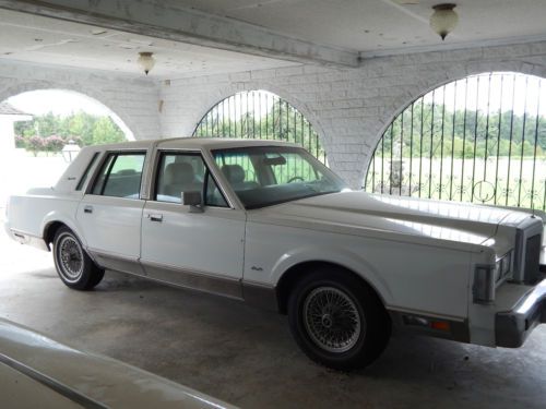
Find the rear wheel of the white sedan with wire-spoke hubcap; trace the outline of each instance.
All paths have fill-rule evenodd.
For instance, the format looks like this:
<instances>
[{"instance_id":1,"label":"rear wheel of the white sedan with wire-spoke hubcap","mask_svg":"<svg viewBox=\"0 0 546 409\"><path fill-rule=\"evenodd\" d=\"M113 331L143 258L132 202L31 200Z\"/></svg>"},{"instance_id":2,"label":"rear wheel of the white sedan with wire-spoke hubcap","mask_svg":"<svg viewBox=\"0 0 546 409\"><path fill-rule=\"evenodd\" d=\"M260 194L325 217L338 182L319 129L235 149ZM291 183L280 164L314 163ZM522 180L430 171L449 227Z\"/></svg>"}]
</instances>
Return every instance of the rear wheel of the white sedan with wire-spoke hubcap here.
<instances>
[{"instance_id":1,"label":"rear wheel of the white sedan with wire-spoke hubcap","mask_svg":"<svg viewBox=\"0 0 546 409\"><path fill-rule=\"evenodd\" d=\"M68 227L61 227L55 233L54 261L62 282L76 290L91 290L104 277L104 269L91 260Z\"/></svg>"}]
</instances>

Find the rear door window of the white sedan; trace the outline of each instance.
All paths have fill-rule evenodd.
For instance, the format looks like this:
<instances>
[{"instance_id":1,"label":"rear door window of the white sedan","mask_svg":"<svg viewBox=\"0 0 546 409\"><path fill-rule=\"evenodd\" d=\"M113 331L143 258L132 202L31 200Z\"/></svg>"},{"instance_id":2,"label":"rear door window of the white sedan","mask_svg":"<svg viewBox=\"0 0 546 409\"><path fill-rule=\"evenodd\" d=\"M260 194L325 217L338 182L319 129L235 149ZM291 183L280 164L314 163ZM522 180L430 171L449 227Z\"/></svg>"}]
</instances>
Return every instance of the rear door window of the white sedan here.
<instances>
[{"instance_id":1,"label":"rear door window of the white sedan","mask_svg":"<svg viewBox=\"0 0 546 409\"><path fill-rule=\"evenodd\" d=\"M139 199L145 153L109 154L100 168L92 194Z\"/></svg>"}]
</instances>

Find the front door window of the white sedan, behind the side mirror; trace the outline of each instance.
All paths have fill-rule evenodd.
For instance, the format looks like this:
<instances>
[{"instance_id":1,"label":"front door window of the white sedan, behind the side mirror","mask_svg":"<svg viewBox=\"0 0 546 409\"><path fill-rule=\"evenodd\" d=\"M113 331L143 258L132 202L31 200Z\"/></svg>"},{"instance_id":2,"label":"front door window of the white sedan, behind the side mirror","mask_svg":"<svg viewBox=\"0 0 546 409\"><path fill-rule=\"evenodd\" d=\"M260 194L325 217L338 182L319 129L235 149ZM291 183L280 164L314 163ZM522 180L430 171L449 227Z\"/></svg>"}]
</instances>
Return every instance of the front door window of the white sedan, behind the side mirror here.
<instances>
[{"instance_id":1,"label":"front door window of the white sedan, behind the side mirror","mask_svg":"<svg viewBox=\"0 0 546 409\"><path fill-rule=\"evenodd\" d=\"M159 158L155 200L181 203L182 192L204 192L205 205L227 207L200 154L163 153Z\"/></svg>"}]
</instances>

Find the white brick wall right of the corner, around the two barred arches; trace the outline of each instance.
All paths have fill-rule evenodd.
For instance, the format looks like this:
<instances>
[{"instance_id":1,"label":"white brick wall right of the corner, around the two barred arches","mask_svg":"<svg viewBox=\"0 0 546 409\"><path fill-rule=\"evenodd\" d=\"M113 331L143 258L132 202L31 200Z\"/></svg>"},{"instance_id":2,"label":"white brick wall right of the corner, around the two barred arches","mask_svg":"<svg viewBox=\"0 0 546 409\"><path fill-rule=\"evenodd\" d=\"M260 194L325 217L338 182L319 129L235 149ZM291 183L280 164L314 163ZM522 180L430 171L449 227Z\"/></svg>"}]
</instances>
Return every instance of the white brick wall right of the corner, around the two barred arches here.
<instances>
[{"instance_id":1,"label":"white brick wall right of the corner, around the two barred arches","mask_svg":"<svg viewBox=\"0 0 546 409\"><path fill-rule=\"evenodd\" d=\"M331 167L357 188L383 130L405 106L438 85L490 71L546 76L546 43L376 58L359 69L301 65L166 81L159 84L162 131L190 135L221 99L268 89L309 119Z\"/></svg>"}]
</instances>

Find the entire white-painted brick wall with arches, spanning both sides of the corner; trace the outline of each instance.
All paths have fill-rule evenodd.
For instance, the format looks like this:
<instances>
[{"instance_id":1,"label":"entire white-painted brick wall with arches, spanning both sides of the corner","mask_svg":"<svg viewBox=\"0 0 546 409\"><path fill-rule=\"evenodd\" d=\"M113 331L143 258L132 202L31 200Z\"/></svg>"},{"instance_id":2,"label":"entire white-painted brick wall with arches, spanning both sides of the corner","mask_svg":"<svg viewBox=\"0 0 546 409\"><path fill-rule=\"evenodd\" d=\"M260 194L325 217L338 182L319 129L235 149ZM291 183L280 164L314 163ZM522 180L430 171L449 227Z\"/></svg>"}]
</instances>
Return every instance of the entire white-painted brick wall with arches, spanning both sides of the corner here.
<instances>
[{"instance_id":1,"label":"entire white-painted brick wall with arches, spanning both sides of the corner","mask_svg":"<svg viewBox=\"0 0 546 409\"><path fill-rule=\"evenodd\" d=\"M376 58L358 69L300 65L162 82L0 60L0 100L32 89L72 89L110 108L136 139L153 139L189 136L221 99L268 89L306 116L332 168L356 188L382 131L407 104L438 85L488 71L546 77L546 43Z\"/></svg>"}]
</instances>

